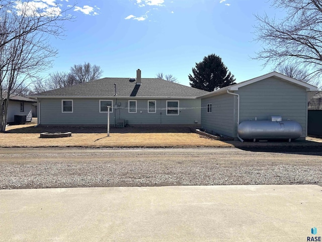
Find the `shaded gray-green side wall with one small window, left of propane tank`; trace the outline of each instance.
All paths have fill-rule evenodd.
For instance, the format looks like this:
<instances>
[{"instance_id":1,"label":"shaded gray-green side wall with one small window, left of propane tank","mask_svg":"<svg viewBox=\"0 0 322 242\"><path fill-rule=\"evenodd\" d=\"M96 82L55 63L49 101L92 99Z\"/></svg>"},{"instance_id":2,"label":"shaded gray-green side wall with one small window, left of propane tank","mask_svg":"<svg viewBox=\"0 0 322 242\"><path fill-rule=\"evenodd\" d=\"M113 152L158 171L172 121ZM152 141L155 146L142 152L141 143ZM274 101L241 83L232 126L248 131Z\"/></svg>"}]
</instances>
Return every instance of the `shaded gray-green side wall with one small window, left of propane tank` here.
<instances>
[{"instance_id":1,"label":"shaded gray-green side wall with one small window, left of propane tank","mask_svg":"<svg viewBox=\"0 0 322 242\"><path fill-rule=\"evenodd\" d=\"M207 104L212 104L212 112L207 113ZM221 94L201 101L201 126L209 133L234 137L235 129L235 97Z\"/></svg>"}]
</instances>

